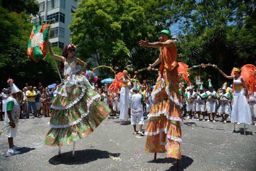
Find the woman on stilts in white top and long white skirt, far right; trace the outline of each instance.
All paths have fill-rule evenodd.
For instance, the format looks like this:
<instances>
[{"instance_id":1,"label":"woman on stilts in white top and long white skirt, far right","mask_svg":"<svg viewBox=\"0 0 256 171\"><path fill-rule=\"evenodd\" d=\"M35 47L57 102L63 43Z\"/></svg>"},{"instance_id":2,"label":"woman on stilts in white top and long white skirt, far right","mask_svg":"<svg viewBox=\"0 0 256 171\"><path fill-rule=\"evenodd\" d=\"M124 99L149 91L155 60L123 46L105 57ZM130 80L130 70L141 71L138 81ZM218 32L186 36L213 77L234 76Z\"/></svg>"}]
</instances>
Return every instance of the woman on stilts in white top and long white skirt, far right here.
<instances>
[{"instance_id":1,"label":"woman on stilts in white top and long white skirt, far right","mask_svg":"<svg viewBox=\"0 0 256 171\"><path fill-rule=\"evenodd\" d=\"M245 97L249 89L245 83L243 76L241 76L241 70L239 68L233 68L233 74L227 76L223 71L218 69L220 73L228 79L233 79L233 108L231 114L232 123L252 123L250 108ZM246 90L246 91L245 91Z\"/></svg>"}]
</instances>

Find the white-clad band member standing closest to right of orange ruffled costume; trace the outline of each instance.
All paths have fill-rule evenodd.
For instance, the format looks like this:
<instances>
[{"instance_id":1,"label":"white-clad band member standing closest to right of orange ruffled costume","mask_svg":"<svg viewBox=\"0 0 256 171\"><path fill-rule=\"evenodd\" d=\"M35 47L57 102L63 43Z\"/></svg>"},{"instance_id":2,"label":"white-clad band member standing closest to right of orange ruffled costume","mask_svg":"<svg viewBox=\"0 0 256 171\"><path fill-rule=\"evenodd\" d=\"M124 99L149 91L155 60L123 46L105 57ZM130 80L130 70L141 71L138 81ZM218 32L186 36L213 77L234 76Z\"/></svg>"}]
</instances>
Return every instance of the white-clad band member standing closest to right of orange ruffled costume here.
<instances>
[{"instance_id":1,"label":"white-clad band member standing closest to right of orange ruffled costume","mask_svg":"<svg viewBox=\"0 0 256 171\"><path fill-rule=\"evenodd\" d=\"M196 92L193 91L192 85L189 86L189 91L185 94L186 97L186 108L188 112L187 119L195 119L195 99L197 98ZM192 113L192 115L191 115ZM192 118L191 118L192 116Z\"/></svg>"}]
</instances>

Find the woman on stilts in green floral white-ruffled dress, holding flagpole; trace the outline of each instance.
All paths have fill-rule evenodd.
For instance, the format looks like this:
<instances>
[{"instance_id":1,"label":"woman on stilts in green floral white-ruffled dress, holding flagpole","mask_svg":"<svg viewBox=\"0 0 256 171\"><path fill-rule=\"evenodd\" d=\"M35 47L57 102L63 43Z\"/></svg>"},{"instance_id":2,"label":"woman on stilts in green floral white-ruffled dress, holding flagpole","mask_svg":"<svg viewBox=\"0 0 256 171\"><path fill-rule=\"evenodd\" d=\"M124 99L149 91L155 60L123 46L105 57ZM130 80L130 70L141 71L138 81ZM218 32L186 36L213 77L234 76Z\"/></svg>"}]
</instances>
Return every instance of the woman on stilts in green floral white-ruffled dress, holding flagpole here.
<instances>
[{"instance_id":1,"label":"woman on stilts in green floral white-ruffled dress, holding flagpole","mask_svg":"<svg viewBox=\"0 0 256 171\"><path fill-rule=\"evenodd\" d=\"M56 97L51 108L53 115L49 122L51 129L45 136L45 145L62 146L85 138L105 119L110 110L98 98L86 76L76 71L76 64L86 63L75 57L75 45L66 45L62 56L49 51L53 58L61 62L60 72L64 67L64 81L55 91Z\"/></svg>"}]
</instances>

